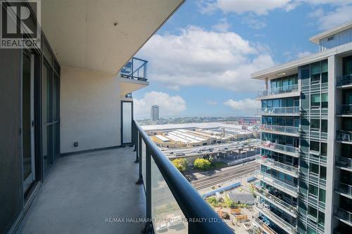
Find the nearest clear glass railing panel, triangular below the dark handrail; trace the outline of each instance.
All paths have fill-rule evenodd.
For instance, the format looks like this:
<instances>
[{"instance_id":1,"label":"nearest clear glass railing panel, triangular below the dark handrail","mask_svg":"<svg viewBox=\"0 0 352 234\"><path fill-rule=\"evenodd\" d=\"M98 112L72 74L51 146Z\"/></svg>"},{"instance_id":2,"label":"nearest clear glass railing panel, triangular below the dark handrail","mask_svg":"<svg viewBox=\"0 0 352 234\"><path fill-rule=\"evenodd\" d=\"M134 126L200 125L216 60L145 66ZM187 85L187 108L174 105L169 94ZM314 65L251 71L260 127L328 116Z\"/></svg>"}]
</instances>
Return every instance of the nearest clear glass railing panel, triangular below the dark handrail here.
<instances>
[{"instance_id":1,"label":"nearest clear glass railing panel, triangular below the dark handrail","mask_svg":"<svg viewBox=\"0 0 352 234\"><path fill-rule=\"evenodd\" d=\"M188 223L151 158L151 216L155 233L188 233Z\"/></svg>"}]
</instances>

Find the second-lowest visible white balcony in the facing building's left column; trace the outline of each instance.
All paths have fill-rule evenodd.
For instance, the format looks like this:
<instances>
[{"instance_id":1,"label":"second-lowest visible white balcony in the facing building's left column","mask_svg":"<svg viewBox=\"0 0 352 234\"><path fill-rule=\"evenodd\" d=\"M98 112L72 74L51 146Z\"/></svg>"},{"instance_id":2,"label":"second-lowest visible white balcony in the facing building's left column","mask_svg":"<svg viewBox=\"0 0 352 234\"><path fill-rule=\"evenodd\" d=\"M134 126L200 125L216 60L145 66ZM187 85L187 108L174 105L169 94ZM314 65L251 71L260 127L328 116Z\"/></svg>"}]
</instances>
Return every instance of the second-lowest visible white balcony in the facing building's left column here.
<instances>
[{"instance_id":1,"label":"second-lowest visible white balcony in the facing building's left column","mask_svg":"<svg viewBox=\"0 0 352 234\"><path fill-rule=\"evenodd\" d=\"M274 212L271 212L267 204L256 201L255 208L258 209L260 213L268 217L268 219L274 222L277 226L285 230L287 233L290 233L290 234L297 233L296 227L292 226L289 222L285 221Z\"/></svg>"}]
</instances>

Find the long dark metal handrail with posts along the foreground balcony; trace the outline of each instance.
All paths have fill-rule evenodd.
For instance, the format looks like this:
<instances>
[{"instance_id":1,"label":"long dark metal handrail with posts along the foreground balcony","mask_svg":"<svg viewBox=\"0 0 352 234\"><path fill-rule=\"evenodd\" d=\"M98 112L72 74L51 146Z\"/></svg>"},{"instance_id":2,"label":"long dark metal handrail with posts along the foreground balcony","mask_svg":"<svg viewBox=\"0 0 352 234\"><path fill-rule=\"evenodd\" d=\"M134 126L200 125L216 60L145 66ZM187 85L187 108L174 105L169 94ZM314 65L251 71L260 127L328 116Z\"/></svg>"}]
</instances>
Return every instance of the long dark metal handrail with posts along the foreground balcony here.
<instances>
[{"instance_id":1,"label":"long dark metal handrail with posts along the foreground balcony","mask_svg":"<svg viewBox=\"0 0 352 234\"><path fill-rule=\"evenodd\" d=\"M139 157L139 180L146 183L146 218L151 219L151 157L156 163L163 179L177 201L182 213L188 221L188 233L234 233L201 195L191 186L189 181L163 155L151 138L137 122L133 121L134 143ZM146 145L146 178L142 178L142 143ZM140 155L140 156L139 156ZM201 222L192 222L202 220Z\"/></svg>"}]
</instances>

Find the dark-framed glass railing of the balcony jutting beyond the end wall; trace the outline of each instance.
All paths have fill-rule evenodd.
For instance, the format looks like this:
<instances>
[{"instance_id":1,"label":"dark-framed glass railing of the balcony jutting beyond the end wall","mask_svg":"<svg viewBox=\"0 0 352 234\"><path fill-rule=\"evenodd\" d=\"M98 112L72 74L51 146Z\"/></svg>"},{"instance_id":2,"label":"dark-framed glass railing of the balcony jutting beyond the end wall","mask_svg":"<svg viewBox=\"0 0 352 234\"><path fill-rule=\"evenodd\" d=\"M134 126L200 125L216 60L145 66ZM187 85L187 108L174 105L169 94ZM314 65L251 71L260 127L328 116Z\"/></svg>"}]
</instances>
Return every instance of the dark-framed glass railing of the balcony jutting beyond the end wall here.
<instances>
[{"instance_id":1,"label":"dark-framed glass railing of the balcony jutting beyond the end wall","mask_svg":"<svg viewBox=\"0 0 352 234\"><path fill-rule=\"evenodd\" d=\"M138 79L146 81L146 66L148 61L140 58L132 58L120 70L120 76L128 79Z\"/></svg>"}]
</instances>

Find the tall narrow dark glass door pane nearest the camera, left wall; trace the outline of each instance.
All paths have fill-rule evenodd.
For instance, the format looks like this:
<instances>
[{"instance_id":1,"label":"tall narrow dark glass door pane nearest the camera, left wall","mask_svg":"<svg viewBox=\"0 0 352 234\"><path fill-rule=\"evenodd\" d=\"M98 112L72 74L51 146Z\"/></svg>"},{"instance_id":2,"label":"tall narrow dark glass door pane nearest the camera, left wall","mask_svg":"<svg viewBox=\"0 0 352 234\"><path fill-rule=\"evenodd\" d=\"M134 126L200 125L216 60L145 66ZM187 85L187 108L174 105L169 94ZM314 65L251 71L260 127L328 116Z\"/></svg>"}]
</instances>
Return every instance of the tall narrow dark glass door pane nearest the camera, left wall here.
<instances>
[{"instance_id":1,"label":"tall narrow dark glass door pane nearest the camera, left wall","mask_svg":"<svg viewBox=\"0 0 352 234\"><path fill-rule=\"evenodd\" d=\"M23 192L35 181L34 160L34 55L23 51L22 69L22 153Z\"/></svg>"}]
</instances>

